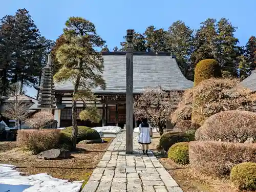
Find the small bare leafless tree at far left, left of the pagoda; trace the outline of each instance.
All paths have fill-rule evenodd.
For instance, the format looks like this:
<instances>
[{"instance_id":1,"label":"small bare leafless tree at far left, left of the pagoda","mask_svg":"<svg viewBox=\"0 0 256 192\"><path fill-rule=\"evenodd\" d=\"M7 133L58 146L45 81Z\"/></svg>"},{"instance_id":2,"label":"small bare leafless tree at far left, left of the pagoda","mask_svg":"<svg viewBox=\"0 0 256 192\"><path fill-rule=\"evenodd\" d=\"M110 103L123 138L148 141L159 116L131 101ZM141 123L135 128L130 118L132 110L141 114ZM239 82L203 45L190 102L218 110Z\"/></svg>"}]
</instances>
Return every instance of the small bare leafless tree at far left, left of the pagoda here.
<instances>
[{"instance_id":1,"label":"small bare leafless tree at far left, left of the pagoda","mask_svg":"<svg viewBox=\"0 0 256 192\"><path fill-rule=\"evenodd\" d=\"M19 91L20 83L12 84L12 97L4 104L3 112L6 118L15 120L16 129L18 129L19 121L26 120L29 114L28 103L24 102Z\"/></svg>"}]
</instances>

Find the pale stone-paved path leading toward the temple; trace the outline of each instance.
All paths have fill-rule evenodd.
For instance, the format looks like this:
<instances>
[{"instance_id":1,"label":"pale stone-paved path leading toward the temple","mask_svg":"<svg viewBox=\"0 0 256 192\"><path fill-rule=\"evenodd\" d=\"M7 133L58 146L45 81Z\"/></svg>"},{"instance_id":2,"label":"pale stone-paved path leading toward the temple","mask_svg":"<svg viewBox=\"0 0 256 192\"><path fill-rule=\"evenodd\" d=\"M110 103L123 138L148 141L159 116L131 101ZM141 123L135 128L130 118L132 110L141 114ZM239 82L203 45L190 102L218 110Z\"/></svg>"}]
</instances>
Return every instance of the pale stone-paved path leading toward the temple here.
<instances>
[{"instance_id":1,"label":"pale stone-paved path leading toward the temple","mask_svg":"<svg viewBox=\"0 0 256 192\"><path fill-rule=\"evenodd\" d=\"M125 154L125 132L116 136L82 192L183 192L152 152L142 154L137 135L133 155Z\"/></svg>"}]
</instances>

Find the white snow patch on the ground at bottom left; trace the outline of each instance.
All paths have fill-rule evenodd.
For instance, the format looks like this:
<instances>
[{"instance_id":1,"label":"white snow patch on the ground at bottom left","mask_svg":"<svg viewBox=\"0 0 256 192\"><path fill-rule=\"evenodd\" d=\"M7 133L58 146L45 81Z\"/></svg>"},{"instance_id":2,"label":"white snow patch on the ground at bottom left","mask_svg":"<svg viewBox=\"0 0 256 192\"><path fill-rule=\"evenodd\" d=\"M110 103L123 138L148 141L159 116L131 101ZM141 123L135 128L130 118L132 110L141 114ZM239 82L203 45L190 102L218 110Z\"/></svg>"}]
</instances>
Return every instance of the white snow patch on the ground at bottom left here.
<instances>
[{"instance_id":1,"label":"white snow patch on the ground at bottom left","mask_svg":"<svg viewBox=\"0 0 256 192\"><path fill-rule=\"evenodd\" d=\"M0 164L1 192L79 192L82 182L68 182L46 173L20 176L14 165Z\"/></svg>"}]
</instances>

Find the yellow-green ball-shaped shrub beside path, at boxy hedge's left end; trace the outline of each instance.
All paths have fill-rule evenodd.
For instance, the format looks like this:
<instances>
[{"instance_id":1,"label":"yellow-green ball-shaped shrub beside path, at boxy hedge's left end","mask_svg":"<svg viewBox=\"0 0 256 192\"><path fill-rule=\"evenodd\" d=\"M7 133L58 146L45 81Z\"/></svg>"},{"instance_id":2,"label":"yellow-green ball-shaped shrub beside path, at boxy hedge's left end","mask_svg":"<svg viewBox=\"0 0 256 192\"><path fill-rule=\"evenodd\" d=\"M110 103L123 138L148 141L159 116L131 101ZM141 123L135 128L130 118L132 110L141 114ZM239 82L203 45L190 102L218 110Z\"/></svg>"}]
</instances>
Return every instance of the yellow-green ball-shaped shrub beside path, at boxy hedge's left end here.
<instances>
[{"instance_id":1,"label":"yellow-green ball-shaped shrub beside path, at boxy hedge's left end","mask_svg":"<svg viewBox=\"0 0 256 192\"><path fill-rule=\"evenodd\" d=\"M180 142L172 145L168 150L168 158L181 165L188 164L188 142Z\"/></svg>"}]
</instances>

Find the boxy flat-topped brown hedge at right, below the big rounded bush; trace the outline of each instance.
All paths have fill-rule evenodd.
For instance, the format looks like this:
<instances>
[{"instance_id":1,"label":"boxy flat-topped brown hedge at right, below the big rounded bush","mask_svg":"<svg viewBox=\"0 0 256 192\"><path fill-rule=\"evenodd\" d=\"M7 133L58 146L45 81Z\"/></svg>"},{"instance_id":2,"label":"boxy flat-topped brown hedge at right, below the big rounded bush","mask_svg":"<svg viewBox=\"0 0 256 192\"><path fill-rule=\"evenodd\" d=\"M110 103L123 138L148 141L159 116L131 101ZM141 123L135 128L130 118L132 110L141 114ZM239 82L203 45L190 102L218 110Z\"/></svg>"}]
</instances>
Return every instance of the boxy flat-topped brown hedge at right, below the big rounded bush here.
<instances>
[{"instance_id":1,"label":"boxy flat-topped brown hedge at right, below the big rounded bush","mask_svg":"<svg viewBox=\"0 0 256 192\"><path fill-rule=\"evenodd\" d=\"M256 144L191 141L189 162L206 175L229 175L231 168L239 163L256 162Z\"/></svg>"}]
</instances>

